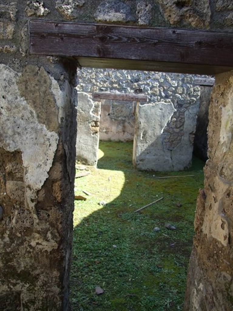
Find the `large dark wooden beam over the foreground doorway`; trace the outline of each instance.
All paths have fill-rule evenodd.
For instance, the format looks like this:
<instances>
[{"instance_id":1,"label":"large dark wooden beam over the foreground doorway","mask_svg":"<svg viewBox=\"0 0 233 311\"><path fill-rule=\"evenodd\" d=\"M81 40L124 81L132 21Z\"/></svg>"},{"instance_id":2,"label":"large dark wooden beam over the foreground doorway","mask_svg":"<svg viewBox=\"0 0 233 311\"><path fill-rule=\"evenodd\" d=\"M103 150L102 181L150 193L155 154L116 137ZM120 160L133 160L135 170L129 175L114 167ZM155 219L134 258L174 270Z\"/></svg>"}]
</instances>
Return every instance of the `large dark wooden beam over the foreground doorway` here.
<instances>
[{"instance_id":1,"label":"large dark wooden beam over the foreground doorway","mask_svg":"<svg viewBox=\"0 0 233 311\"><path fill-rule=\"evenodd\" d=\"M75 57L81 66L216 74L233 70L233 34L29 21L30 53ZM89 64L90 63L90 64Z\"/></svg>"}]
</instances>

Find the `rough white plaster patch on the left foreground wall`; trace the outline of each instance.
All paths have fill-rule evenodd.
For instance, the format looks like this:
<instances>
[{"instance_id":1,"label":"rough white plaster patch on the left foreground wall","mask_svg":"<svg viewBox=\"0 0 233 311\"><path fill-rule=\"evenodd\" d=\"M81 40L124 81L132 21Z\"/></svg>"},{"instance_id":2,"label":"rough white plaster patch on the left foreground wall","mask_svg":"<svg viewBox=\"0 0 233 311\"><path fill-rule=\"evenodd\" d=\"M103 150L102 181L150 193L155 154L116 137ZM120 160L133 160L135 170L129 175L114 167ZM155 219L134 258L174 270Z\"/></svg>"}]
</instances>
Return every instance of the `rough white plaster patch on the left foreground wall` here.
<instances>
[{"instance_id":1,"label":"rough white plaster patch on the left foreground wall","mask_svg":"<svg viewBox=\"0 0 233 311\"><path fill-rule=\"evenodd\" d=\"M21 97L17 86L21 74L3 64L0 72L0 146L10 152L22 152L25 186L33 193L48 177L58 135L38 122L34 110Z\"/></svg>"}]
</instances>

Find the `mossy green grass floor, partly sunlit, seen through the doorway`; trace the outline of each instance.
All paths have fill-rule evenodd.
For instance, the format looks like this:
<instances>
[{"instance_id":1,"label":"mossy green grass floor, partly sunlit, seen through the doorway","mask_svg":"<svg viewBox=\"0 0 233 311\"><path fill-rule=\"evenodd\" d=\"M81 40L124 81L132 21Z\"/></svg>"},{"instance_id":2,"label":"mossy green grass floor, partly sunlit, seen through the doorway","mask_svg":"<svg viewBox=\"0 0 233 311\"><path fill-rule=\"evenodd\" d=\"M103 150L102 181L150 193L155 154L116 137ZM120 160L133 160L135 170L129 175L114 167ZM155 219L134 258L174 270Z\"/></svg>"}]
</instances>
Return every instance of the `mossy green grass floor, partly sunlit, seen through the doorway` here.
<instances>
[{"instance_id":1,"label":"mossy green grass floor, partly sunlit, seen through the doorway","mask_svg":"<svg viewBox=\"0 0 233 311\"><path fill-rule=\"evenodd\" d=\"M203 162L188 171L148 173L132 168L132 143L101 142L98 169L75 180L71 266L74 311L182 310ZM194 177L156 179L156 176ZM139 213L136 209L164 199ZM106 201L106 206L98 205ZM181 207L176 204L180 202ZM168 230L169 222L177 230ZM160 227L154 232L154 227ZM95 287L103 288L102 295Z\"/></svg>"}]
</instances>

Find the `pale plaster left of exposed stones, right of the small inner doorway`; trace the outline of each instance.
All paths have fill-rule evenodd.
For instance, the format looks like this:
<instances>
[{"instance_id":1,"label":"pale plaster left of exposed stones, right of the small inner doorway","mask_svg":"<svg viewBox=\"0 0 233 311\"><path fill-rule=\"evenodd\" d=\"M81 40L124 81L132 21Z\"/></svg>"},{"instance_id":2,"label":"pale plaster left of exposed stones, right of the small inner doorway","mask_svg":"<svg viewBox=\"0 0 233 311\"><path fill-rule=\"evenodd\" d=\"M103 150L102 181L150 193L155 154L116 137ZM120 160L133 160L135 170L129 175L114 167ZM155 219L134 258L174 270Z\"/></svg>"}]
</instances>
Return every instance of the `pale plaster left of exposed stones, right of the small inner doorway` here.
<instances>
[{"instance_id":1,"label":"pale plaster left of exposed stones, right of the small inner doorway","mask_svg":"<svg viewBox=\"0 0 233 311\"><path fill-rule=\"evenodd\" d=\"M161 134L175 111L172 103L165 102L137 106L133 163L138 169L172 169L170 151L164 151Z\"/></svg>"}]
</instances>

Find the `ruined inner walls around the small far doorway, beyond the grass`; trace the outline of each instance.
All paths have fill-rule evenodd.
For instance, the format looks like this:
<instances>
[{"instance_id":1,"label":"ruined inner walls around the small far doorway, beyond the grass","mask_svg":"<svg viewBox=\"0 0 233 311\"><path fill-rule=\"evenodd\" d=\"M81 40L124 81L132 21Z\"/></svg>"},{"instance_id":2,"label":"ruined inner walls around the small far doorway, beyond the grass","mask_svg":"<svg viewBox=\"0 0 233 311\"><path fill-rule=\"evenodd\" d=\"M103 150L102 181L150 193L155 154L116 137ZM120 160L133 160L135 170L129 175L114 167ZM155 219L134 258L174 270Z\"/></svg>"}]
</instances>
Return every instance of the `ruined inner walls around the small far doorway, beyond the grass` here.
<instances>
[{"instance_id":1,"label":"ruined inner walls around the small far doorway, beyond the grass","mask_svg":"<svg viewBox=\"0 0 233 311\"><path fill-rule=\"evenodd\" d=\"M212 78L99 68L77 76L78 161L96 166L99 140L133 141L133 165L141 170L187 169L193 147L207 160L212 87L201 83Z\"/></svg>"}]
</instances>

